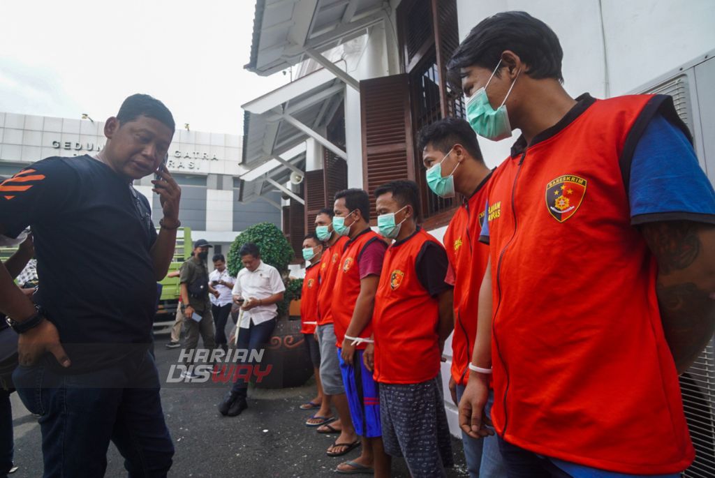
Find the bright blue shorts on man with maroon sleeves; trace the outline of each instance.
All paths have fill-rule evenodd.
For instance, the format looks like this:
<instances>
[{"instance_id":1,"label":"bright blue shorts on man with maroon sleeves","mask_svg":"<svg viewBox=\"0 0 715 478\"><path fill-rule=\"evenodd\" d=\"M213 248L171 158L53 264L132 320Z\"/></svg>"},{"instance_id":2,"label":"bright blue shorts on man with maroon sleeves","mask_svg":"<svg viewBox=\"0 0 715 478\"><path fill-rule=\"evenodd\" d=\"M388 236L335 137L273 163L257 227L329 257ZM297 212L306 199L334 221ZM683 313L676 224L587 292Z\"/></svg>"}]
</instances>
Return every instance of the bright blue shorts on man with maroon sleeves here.
<instances>
[{"instance_id":1,"label":"bright blue shorts on man with maroon sleeves","mask_svg":"<svg viewBox=\"0 0 715 478\"><path fill-rule=\"evenodd\" d=\"M337 349L337 359L340 360L342 383L345 385L347 404L350 406L350 417L355 433L360 437L375 438L383 436L380 425L380 392L378 383L373 380L373 372L363 364L363 350L355 350L352 357L354 365L346 364L340 355L342 349Z\"/></svg>"}]
</instances>

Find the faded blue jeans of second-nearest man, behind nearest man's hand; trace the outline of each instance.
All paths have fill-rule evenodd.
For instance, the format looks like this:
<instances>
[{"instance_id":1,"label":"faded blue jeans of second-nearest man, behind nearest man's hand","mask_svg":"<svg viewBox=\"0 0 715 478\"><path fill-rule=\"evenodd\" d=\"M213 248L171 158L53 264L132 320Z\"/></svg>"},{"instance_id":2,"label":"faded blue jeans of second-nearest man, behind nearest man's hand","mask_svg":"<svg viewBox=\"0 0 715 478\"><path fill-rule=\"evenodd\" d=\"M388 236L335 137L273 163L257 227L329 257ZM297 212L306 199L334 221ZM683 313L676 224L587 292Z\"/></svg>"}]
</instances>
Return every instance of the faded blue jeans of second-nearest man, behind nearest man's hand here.
<instances>
[{"instance_id":1,"label":"faded blue jeans of second-nearest man, behind nearest man's hand","mask_svg":"<svg viewBox=\"0 0 715 478\"><path fill-rule=\"evenodd\" d=\"M457 385L457 402L464 394L465 387ZM485 412L491 416L491 407L494 403L494 392L489 391L489 398ZM499 442L496 435L483 439L474 439L462 432L464 459L470 478L506 478L506 467L499 451Z\"/></svg>"}]
</instances>

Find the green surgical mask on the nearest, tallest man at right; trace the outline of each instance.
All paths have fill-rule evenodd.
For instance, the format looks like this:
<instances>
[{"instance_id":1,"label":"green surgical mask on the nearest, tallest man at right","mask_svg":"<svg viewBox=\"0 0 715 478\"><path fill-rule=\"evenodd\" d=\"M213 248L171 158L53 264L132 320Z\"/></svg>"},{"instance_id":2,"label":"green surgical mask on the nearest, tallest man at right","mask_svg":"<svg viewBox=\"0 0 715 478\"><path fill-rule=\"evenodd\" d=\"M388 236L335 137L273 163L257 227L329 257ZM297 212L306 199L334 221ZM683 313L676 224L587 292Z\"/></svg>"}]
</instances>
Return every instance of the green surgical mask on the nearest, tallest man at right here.
<instances>
[{"instance_id":1,"label":"green surgical mask on the nearest, tallest man at right","mask_svg":"<svg viewBox=\"0 0 715 478\"><path fill-rule=\"evenodd\" d=\"M511 136L511 123L509 122L509 115L506 112L506 99L509 97L509 94L511 94L511 89L513 89L514 84L516 84L519 73L521 73L520 69L516 73L514 81L511 82L504 101L501 102L501 105L499 105L497 109L493 109L487 96L487 86L489 86L490 81L500 65L501 60L499 60L496 68L492 71L487 84L467 98L467 121L469 121L470 126L472 126L476 134L486 139L491 139L492 141L501 141Z\"/></svg>"}]
</instances>

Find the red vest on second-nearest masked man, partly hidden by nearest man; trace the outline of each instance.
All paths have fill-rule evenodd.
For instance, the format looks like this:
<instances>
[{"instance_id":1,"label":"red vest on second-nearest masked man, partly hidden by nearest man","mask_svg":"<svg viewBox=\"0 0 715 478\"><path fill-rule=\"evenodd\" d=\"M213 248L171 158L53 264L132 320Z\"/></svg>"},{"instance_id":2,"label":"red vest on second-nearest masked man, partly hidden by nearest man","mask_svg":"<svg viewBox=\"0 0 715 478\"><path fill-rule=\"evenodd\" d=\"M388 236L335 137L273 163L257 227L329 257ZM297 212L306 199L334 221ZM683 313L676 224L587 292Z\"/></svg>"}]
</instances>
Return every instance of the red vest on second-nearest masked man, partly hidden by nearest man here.
<instances>
[{"instance_id":1,"label":"red vest on second-nearest masked man, partly hidden by nearest man","mask_svg":"<svg viewBox=\"0 0 715 478\"><path fill-rule=\"evenodd\" d=\"M454 273L454 334L452 335L452 378L466 385L477 334L479 287L487 267L489 247L479 242L490 176L460 206L444 235L450 267Z\"/></svg>"}]
</instances>

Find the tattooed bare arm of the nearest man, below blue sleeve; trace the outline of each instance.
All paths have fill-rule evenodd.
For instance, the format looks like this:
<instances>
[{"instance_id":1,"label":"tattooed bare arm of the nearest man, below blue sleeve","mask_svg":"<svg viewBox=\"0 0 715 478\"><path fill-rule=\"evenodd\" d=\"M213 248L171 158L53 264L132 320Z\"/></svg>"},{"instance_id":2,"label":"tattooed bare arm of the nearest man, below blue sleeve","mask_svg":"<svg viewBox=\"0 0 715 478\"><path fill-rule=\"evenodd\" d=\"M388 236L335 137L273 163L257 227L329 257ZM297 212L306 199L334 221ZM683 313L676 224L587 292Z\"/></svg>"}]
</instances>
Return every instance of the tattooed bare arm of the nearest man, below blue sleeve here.
<instances>
[{"instance_id":1,"label":"tattooed bare arm of the nearest man, below blue sleeve","mask_svg":"<svg viewBox=\"0 0 715 478\"><path fill-rule=\"evenodd\" d=\"M663 221L641 226L658 260L658 302L678 373L684 372L715 330L715 226Z\"/></svg>"}]
</instances>

